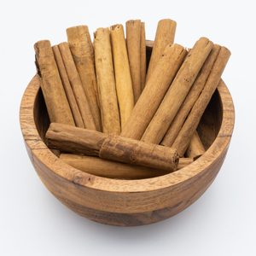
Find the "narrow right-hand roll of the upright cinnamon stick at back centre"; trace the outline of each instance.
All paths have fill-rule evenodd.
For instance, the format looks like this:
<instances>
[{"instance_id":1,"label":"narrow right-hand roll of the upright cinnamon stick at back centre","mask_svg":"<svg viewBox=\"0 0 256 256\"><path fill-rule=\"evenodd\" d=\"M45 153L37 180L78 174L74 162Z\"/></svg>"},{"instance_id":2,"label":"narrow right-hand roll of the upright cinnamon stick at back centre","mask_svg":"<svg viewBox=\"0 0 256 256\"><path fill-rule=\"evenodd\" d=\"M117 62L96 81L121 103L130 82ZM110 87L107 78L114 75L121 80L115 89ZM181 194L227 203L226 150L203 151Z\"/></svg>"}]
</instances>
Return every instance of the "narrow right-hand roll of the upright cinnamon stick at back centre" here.
<instances>
[{"instance_id":1,"label":"narrow right-hand roll of the upright cinnamon stick at back centre","mask_svg":"<svg viewBox=\"0 0 256 256\"><path fill-rule=\"evenodd\" d=\"M141 23L141 89L143 91L146 82L146 72L147 72L147 55L146 55L146 32L145 32L145 22Z\"/></svg>"}]
</instances>

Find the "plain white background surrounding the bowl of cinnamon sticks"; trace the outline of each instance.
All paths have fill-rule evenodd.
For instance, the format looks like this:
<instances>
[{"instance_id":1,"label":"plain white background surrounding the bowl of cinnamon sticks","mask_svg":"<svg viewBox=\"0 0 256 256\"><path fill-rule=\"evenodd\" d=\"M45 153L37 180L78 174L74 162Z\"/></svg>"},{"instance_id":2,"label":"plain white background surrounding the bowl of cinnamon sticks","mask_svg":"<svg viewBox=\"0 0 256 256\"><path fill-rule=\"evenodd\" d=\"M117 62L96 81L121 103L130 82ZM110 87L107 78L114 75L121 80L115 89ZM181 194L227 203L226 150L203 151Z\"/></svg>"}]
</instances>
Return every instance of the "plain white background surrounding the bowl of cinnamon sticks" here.
<instances>
[{"instance_id":1,"label":"plain white background surrounding the bowl of cinnamon sticks","mask_svg":"<svg viewBox=\"0 0 256 256\"><path fill-rule=\"evenodd\" d=\"M239 4L238 4L239 3ZM1 255L256 255L255 3L253 1L1 1ZM236 125L224 166L191 207L157 224L97 224L64 207L26 154L20 100L36 73L33 44L66 41L66 28L140 19L154 39L159 20L177 21L175 43L200 37L230 49L224 71Z\"/></svg>"}]
</instances>

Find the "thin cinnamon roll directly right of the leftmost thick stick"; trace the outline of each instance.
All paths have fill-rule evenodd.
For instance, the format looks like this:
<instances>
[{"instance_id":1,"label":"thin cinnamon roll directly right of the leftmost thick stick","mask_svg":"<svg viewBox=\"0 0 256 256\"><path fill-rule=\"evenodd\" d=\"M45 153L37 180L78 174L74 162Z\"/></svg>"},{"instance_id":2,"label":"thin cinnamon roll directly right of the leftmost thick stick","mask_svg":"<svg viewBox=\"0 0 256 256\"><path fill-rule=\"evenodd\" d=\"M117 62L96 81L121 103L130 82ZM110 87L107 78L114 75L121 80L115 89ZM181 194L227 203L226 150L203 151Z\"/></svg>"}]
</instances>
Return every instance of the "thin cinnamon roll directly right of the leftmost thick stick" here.
<instances>
[{"instance_id":1,"label":"thin cinnamon roll directly right of the leftmost thick stick","mask_svg":"<svg viewBox=\"0 0 256 256\"><path fill-rule=\"evenodd\" d=\"M75 124L76 124L76 126L78 126L80 128L84 128L84 122L83 122L81 113L79 111L78 103L75 99L75 96L73 95L73 90L71 88L71 84L69 83L69 80L67 77L67 71L66 71L64 63L62 61L62 58L61 58L60 49L59 49L58 45L52 46L52 49L53 49L53 52L55 55L55 61L56 61L56 64L57 64L57 67L59 69L59 73L61 76L61 81L62 81L63 87L65 89L65 92L66 92L67 100L68 100L69 106L71 108L71 111L73 113L73 119L75 121Z\"/></svg>"}]
</instances>

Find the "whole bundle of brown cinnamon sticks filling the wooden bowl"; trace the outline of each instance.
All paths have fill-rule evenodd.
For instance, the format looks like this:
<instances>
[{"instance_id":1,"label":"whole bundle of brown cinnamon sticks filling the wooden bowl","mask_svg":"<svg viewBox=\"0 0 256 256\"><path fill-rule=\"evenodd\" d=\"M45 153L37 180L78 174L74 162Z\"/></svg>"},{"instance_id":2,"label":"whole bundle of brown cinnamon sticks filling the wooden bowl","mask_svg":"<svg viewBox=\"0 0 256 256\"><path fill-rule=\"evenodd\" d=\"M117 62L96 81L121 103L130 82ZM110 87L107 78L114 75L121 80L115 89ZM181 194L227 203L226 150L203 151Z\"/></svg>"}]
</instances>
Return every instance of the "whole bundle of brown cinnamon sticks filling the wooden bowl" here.
<instances>
[{"instance_id":1,"label":"whole bundle of brown cinnamon sticks filling the wooden bowl","mask_svg":"<svg viewBox=\"0 0 256 256\"><path fill-rule=\"evenodd\" d=\"M61 160L102 177L145 178L204 154L196 128L230 50L208 38L185 49L174 44L176 26L159 21L148 60L141 20L98 28L93 42L88 26L73 26L67 42L34 45L45 137Z\"/></svg>"}]
</instances>

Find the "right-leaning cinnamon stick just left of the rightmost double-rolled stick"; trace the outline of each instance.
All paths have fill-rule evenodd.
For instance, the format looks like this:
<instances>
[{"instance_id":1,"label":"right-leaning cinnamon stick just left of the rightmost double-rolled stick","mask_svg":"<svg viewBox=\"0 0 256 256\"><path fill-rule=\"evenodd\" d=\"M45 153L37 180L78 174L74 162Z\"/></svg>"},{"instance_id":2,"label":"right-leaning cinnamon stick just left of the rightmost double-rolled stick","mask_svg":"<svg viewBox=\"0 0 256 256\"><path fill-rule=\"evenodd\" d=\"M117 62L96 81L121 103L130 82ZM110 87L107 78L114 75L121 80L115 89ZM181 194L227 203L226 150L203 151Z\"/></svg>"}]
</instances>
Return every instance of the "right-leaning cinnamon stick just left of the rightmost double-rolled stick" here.
<instances>
[{"instance_id":1,"label":"right-leaning cinnamon stick just left of the rightmost double-rolled stick","mask_svg":"<svg viewBox=\"0 0 256 256\"><path fill-rule=\"evenodd\" d=\"M212 42L207 38L200 38L183 61L164 100L154 114L143 134L142 141L159 144L172 123L178 109L189 93L197 74L212 50ZM146 86L147 87L147 86Z\"/></svg>"}]
</instances>

